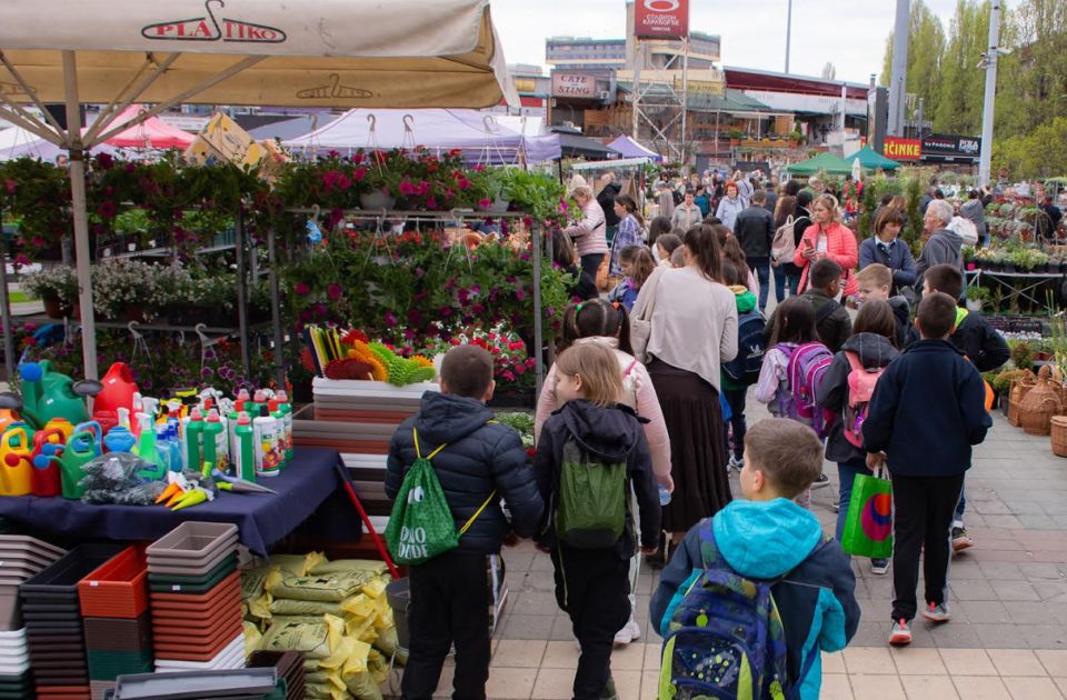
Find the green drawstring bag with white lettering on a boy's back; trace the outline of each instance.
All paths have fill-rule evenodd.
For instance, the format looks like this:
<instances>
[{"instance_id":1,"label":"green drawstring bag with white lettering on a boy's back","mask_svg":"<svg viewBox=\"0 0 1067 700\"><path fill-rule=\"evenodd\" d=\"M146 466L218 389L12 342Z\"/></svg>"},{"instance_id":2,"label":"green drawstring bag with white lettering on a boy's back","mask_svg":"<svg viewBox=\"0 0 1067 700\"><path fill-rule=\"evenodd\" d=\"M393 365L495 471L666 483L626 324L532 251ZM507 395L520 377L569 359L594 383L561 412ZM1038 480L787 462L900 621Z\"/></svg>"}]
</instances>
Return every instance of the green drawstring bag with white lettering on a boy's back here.
<instances>
[{"instance_id":1,"label":"green drawstring bag with white lettering on a boy's back","mask_svg":"<svg viewBox=\"0 0 1067 700\"><path fill-rule=\"evenodd\" d=\"M490 493L481 508L475 511L457 532L452 510L448 507L441 482L430 463L446 446L442 444L422 457L419 450L419 433L413 427L411 433L415 437L416 460L403 476L403 483L400 484L392 512L389 514L389 526L386 528L389 553L393 561L400 564L426 563L438 554L459 547L459 538L497 494L496 491Z\"/></svg>"}]
</instances>

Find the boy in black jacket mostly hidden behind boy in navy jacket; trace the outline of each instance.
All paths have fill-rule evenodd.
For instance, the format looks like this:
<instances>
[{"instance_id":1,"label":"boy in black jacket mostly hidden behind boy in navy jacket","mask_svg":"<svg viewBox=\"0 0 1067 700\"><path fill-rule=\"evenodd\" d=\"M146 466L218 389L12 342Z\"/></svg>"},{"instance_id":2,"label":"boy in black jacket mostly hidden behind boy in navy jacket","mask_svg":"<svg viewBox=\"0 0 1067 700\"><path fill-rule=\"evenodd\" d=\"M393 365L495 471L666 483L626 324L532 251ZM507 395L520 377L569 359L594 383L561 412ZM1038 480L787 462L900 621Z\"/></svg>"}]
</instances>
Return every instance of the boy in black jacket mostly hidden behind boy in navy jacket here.
<instances>
[{"instance_id":1,"label":"boy in black jacket mostly hidden behind boy in navy jacket","mask_svg":"<svg viewBox=\"0 0 1067 700\"><path fill-rule=\"evenodd\" d=\"M926 271L923 281L923 293L944 292L953 299L964 296L964 274L954 264L936 264ZM918 340L918 338L914 338ZM974 362L979 372L991 372L1011 357L1004 336L977 311L966 307L956 308L956 330L948 341ZM974 542L964 527L964 511L967 508L967 490L959 497L956 507L956 517L953 520L953 551L963 551L974 547Z\"/></svg>"}]
</instances>

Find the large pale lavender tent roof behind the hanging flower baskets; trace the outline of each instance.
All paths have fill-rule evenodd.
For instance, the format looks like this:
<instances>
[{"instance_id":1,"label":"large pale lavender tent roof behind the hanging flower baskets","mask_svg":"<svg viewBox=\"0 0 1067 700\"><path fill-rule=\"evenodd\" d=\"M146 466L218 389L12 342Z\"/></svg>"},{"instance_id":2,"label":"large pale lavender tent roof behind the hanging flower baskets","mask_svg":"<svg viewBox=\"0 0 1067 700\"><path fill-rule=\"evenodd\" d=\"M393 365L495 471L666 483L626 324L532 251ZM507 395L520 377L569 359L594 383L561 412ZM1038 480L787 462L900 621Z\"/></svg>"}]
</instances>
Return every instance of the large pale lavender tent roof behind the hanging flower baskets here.
<instances>
[{"instance_id":1,"label":"large pale lavender tent roof behind the hanging flower baskets","mask_svg":"<svg viewBox=\"0 0 1067 700\"><path fill-rule=\"evenodd\" d=\"M492 114L472 109L353 109L306 136L282 141L291 151L353 152L421 146L431 151L460 149L468 162L515 163L560 157L559 137L523 136Z\"/></svg>"}]
</instances>

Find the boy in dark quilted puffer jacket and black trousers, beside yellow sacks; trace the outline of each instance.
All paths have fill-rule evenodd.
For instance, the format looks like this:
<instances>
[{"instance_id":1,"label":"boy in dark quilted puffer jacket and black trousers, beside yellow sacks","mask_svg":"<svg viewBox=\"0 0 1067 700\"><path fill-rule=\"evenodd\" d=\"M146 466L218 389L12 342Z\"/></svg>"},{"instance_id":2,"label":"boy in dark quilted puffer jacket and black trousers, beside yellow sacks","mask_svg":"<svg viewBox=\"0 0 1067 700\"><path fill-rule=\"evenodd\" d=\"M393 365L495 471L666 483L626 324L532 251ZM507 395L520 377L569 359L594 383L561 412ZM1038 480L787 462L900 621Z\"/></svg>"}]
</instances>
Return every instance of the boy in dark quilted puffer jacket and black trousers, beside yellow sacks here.
<instances>
[{"instance_id":1,"label":"boy in dark quilted puffer jacket and black trousers, beside yellow sacks","mask_svg":"<svg viewBox=\"0 0 1067 700\"><path fill-rule=\"evenodd\" d=\"M401 682L406 699L433 696L453 642L455 697L486 697L490 556L499 556L512 529L519 537L532 537L544 511L519 436L490 422L492 412L486 401L493 388L491 354L475 346L452 348L441 363L441 393L427 392L419 412L400 424L389 444L386 496L390 499L416 460L417 434L423 457L445 446L431 461L457 532L487 499L489 503L457 549L408 568L411 648ZM511 512L510 523L500 509L501 497Z\"/></svg>"}]
</instances>

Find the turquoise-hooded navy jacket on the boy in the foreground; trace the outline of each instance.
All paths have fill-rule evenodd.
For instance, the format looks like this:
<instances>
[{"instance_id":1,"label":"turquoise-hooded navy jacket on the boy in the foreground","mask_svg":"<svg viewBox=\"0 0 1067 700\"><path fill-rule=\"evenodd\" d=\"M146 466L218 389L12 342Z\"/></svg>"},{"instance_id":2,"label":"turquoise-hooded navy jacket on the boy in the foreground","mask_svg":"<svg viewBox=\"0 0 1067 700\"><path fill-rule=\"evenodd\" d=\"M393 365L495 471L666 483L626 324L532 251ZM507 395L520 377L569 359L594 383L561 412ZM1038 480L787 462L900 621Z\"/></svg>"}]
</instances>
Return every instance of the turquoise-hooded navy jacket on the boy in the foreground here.
<instances>
[{"instance_id":1,"label":"turquoise-hooded navy jacket on the boy in the foreground","mask_svg":"<svg viewBox=\"0 0 1067 700\"><path fill-rule=\"evenodd\" d=\"M757 580L785 580L771 592L786 633L790 679L810 654L800 697L817 700L822 686L821 651L844 649L859 627L856 578L836 541L824 541L819 520L790 500L734 501L712 519L715 541L727 563ZM649 607L655 629L662 633L682 592L700 574L700 523L694 526L659 579ZM814 551L818 548L818 551ZM814 553L812 553L814 552Z\"/></svg>"}]
</instances>

